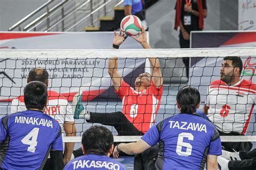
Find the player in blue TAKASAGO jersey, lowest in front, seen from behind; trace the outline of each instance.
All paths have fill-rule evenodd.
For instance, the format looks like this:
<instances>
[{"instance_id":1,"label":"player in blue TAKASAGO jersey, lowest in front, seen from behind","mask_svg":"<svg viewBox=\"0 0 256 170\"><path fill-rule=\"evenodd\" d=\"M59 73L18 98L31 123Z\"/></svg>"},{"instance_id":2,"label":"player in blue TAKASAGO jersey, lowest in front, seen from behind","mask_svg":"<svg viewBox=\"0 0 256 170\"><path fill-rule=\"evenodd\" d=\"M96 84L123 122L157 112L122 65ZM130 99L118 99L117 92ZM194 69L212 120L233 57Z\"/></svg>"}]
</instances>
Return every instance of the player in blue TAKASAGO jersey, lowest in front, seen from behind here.
<instances>
[{"instance_id":1,"label":"player in blue TAKASAGO jersey, lowest in front, seen from behind","mask_svg":"<svg viewBox=\"0 0 256 170\"><path fill-rule=\"evenodd\" d=\"M82 137L82 150L85 155L77 157L65 166L70 169L116 169L124 170L120 162L109 158L114 145L113 134L104 126L91 126Z\"/></svg>"}]
</instances>

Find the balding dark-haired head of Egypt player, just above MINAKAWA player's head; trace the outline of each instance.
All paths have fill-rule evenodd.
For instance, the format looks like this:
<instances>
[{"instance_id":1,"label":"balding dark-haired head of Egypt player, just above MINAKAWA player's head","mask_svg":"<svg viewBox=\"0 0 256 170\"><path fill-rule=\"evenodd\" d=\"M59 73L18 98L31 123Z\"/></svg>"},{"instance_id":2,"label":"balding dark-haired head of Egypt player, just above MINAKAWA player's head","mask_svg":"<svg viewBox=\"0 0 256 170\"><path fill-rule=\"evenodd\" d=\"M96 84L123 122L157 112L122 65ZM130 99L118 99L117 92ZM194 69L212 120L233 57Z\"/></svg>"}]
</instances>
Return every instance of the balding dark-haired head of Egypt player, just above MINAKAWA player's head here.
<instances>
[{"instance_id":1,"label":"balding dark-haired head of Egypt player, just above MINAKAWA player's head","mask_svg":"<svg viewBox=\"0 0 256 170\"><path fill-rule=\"evenodd\" d=\"M41 81L46 84L49 74L44 68L31 69L29 72L29 82L31 81Z\"/></svg>"}]
</instances>

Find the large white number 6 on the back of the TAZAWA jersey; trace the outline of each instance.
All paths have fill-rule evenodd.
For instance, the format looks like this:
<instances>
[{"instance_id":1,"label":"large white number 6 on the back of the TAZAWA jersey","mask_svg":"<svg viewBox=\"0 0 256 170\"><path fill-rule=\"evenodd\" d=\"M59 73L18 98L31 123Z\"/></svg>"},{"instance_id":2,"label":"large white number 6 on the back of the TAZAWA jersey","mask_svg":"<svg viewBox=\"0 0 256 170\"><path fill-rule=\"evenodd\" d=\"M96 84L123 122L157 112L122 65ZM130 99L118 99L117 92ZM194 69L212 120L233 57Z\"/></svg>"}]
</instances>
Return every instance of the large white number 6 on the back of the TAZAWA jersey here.
<instances>
[{"instance_id":1,"label":"large white number 6 on the back of the TAZAWA jersey","mask_svg":"<svg viewBox=\"0 0 256 170\"><path fill-rule=\"evenodd\" d=\"M188 157L192 152L192 145L183 141L183 138L188 138L188 140L193 140L194 136L191 133L180 133L177 141L176 153L181 156ZM186 147L186 151L182 151L181 148Z\"/></svg>"}]
</instances>

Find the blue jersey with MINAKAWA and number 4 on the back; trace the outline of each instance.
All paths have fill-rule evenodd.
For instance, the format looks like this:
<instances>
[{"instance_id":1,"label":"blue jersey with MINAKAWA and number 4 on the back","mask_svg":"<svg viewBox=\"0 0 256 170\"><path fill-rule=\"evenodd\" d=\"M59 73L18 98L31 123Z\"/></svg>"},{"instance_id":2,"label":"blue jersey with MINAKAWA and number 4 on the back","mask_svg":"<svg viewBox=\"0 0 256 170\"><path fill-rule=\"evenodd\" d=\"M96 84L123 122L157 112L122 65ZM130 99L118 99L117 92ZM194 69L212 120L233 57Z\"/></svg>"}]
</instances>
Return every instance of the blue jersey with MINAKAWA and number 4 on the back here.
<instances>
[{"instance_id":1,"label":"blue jersey with MINAKAWA and number 4 on the back","mask_svg":"<svg viewBox=\"0 0 256 170\"><path fill-rule=\"evenodd\" d=\"M63 151L59 124L41 111L16 112L0 121L2 169L41 169L50 150Z\"/></svg>"}]
</instances>

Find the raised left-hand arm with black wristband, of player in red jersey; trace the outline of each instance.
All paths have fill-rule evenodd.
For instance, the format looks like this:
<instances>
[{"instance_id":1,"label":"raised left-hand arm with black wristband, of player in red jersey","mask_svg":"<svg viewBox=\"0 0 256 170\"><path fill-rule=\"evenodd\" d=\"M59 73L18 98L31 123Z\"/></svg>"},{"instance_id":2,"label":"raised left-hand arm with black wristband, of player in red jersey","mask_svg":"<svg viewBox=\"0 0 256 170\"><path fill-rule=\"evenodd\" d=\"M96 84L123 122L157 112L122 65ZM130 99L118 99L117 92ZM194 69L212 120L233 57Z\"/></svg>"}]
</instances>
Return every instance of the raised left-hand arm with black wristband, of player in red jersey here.
<instances>
[{"instance_id":1,"label":"raised left-hand arm with black wristband, of player in red jersey","mask_svg":"<svg viewBox=\"0 0 256 170\"><path fill-rule=\"evenodd\" d=\"M119 46L122 44L122 42L125 40L124 35L122 35L122 32L120 31L117 35L116 31L114 31L114 39L113 39L113 49L118 49ZM117 58L111 58L109 59L109 75L112 79L114 88L116 90L119 90L119 87L122 84L122 76L117 71Z\"/></svg>"}]
</instances>

